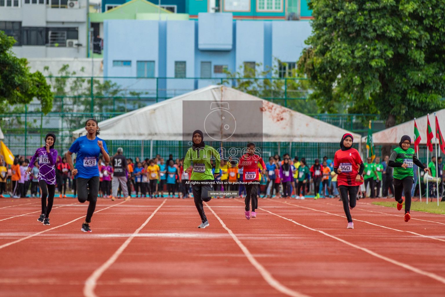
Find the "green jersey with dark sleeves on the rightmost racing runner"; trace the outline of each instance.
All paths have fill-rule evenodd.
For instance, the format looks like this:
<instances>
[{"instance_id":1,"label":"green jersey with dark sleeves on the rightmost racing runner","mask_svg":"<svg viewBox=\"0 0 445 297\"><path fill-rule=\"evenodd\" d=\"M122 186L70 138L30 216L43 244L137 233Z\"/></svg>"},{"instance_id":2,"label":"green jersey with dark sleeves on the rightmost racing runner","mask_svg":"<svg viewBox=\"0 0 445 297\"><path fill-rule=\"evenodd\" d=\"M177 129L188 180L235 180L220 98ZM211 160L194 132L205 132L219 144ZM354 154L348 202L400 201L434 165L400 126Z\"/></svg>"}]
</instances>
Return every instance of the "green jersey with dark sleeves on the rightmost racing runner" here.
<instances>
[{"instance_id":1,"label":"green jersey with dark sleeves on the rightmost racing runner","mask_svg":"<svg viewBox=\"0 0 445 297\"><path fill-rule=\"evenodd\" d=\"M389 157L389 161L395 162L392 167L394 167L394 178L395 179L405 179L409 176L414 176L413 164L415 163L420 168L423 168L422 163L417 159L416 152L409 148L404 150L401 147L396 147ZM405 163L408 165L407 168L401 167Z\"/></svg>"}]
</instances>

